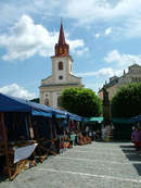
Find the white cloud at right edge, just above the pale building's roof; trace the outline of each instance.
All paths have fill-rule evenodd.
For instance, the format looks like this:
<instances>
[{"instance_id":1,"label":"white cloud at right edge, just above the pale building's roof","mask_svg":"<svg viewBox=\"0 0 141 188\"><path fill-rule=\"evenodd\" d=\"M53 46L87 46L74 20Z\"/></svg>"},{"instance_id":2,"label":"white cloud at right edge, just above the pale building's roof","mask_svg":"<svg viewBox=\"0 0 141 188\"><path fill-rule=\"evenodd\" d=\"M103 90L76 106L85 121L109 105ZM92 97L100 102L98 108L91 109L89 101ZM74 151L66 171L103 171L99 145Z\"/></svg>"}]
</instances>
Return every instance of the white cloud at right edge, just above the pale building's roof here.
<instances>
[{"instance_id":1,"label":"white cloud at right edge, just above the pale building's roof","mask_svg":"<svg viewBox=\"0 0 141 188\"><path fill-rule=\"evenodd\" d=\"M129 66L133 63L141 65L141 54L133 55L133 54L120 54L117 50L111 51L104 60L107 63L115 63L119 66Z\"/></svg>"}]
</instances>

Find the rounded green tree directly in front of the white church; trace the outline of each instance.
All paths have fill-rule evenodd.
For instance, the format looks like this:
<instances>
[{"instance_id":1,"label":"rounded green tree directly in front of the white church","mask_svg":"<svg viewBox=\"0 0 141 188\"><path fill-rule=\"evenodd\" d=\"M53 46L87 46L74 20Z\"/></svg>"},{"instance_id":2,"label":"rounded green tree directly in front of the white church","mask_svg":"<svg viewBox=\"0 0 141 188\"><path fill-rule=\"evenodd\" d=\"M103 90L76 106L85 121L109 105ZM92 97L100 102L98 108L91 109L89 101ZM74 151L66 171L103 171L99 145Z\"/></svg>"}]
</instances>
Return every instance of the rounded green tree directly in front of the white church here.
<instances>
[{"instance_id":1,"label":"rounded green tree directly in front of the white church","mask_svg":"<svg viewBox=\"0 0 141 188\"><path fill-rule=\"evenodd\" d=\"M99 116L102 102L94 91L86 88L68 88L61 93L61 106L80 116Z\"/></svg>"}]
</instances>

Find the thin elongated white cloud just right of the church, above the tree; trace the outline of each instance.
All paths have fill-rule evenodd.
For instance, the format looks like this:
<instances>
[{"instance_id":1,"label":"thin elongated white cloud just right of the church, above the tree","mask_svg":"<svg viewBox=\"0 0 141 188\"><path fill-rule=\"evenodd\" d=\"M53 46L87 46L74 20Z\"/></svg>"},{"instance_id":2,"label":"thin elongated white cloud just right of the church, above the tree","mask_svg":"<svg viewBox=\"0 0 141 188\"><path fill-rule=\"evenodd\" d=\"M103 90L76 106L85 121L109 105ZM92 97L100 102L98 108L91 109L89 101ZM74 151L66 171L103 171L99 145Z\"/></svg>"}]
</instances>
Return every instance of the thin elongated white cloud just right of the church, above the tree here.
<instances>
[{"instance_id":1,"label":"thin elongated white cloud just right of the church, above the tree","mask_svg":"<svg viewBox=\"0 0 141 188\"><path fill-rule=\"evenodd\" d=\"M105 68L101 68L99 71L95 72L87 72L87 73L77 73L78 76L97 76L97 77L112 77L114 75L119 76L123 73L123 71L120 70L113 70L112 67L105 67Z\"/></svg>"}]
</instances>

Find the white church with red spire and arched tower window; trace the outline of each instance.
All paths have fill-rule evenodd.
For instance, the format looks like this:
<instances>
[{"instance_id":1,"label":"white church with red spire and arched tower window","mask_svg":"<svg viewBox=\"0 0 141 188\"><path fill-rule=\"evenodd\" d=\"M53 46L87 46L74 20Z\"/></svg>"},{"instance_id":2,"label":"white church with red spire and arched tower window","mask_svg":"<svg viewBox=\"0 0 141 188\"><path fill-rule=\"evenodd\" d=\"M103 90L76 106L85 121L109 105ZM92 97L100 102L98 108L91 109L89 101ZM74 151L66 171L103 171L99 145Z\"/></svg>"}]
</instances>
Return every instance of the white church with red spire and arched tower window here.
<instances>
[{"instance_id":1,"label":"white church with red spire and arched tower window","mask_svg":"<svg viewBox=\"0 0 141 188\"><path fill-rule=\"evenodd\" d=\"M52 75L41 79L39 87L40 103L60 108L61 91L70 87L84 87L81 77L73 75L73 59L69 55L69 45L65 41L64 28L61 23L59 42L54 47Z\"/></svg>"}]
</instances>

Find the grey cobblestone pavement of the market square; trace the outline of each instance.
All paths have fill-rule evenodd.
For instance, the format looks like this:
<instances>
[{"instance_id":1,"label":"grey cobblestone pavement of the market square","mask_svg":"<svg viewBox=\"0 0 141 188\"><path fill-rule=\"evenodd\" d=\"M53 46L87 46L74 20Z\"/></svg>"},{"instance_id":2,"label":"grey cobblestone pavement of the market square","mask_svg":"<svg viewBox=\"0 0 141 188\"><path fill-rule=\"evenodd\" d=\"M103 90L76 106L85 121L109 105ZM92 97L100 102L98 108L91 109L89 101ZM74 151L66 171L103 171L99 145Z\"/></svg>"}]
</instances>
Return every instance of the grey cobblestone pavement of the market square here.
<instances>
[{"instance_id":1,"label":"grey cobblestone pavement of the market square","mask_svg":"<svg viewBox=\"0 0 141 188\"><path fill-rule=\"evenodd\" d=\"M141 155L126 142L77 146L0 188L141 188Z\"/></svg>"}]
</instances>

